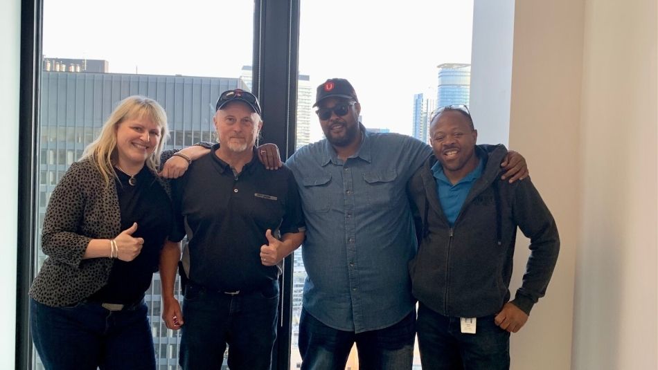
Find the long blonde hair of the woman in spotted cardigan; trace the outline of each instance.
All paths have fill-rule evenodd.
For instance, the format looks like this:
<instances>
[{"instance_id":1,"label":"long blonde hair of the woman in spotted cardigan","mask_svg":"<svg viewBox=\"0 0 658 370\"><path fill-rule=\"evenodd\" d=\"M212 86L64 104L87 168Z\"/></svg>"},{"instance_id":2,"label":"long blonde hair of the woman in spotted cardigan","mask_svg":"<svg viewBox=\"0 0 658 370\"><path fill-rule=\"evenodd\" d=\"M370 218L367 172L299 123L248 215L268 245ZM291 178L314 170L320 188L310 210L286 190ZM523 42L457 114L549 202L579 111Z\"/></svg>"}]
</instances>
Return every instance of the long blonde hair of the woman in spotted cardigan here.
<instances>
[{"instance_id":1,"label":"long blonde hair of the woman in spotted cardigan","mask_svg":"<svg viewBox=\"0 0 658 370\"><path fill-rule=\"evenodd\" d=\"M160 141L153 153L146 158L145 165L153 171L158 170L160 154L164 143L169 136L167 127L167 113L155 100L141 95L132 95L119 102L118 106L109 115L100 130L100 135L91 142L82 153L82 158L89 158L109 186L110 178L116 177L114 164L116 163L116 131L118 125L125 120L148 118L160 127Z\"/></svg>"}]
</instances>

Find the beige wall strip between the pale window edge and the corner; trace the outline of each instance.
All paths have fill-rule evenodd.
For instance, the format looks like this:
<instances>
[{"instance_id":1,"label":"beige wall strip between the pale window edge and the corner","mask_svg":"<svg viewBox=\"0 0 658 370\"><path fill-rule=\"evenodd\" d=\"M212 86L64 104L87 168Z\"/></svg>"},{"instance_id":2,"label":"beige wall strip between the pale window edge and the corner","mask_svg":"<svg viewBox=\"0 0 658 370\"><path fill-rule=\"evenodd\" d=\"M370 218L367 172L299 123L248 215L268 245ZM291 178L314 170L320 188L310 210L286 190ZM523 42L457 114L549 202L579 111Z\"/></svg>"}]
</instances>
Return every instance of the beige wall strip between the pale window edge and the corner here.
<instances>
[{"instance_id":1,"label":"beige wall strip between the pale window edge and the corner","mask_svg":"<svg viewBox=\"0 0 658 370\"><path fill-rule=\"evenodd\" d=\"M515 3L510 147L528 160L531 179L558 224L561 247L546 297L512 337L513 369L569 369L571 363L584 8L582 0ZM527 245L519 237L513 288L521 284Z\"/></svg>"}]
</instances>

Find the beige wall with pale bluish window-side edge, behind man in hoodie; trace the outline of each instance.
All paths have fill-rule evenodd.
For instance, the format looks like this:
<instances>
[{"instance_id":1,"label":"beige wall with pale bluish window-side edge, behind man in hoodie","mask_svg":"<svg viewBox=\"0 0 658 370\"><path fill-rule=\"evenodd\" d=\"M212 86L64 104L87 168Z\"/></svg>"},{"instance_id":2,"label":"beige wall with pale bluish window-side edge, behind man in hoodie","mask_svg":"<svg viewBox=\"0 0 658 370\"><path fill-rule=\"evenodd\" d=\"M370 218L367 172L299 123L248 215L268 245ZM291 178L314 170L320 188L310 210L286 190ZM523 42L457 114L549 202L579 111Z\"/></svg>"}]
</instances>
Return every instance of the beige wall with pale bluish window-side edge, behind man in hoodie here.
<instances>
[{"instance_id":1,"label":"beige wall with pale bluish window-side edge, behind man in hoodie","mask_svg":"<svg viewBox=\"0 0 658 370\"><path fill-rule=\"evenodd\" d=\"M474 3L471 89L480 95L471 100L479 104L477 122L486 120L476 122L479 142L508 140L523 154L562 242L546 297L510 340L512 369L561 370L571 363L583 11L583 0ZM490 128L489 117L495 122ZM480 140L485 130L486 140ZM513 294L521 285L528 243L519 232Z\"/></svg>"}]
</instances>

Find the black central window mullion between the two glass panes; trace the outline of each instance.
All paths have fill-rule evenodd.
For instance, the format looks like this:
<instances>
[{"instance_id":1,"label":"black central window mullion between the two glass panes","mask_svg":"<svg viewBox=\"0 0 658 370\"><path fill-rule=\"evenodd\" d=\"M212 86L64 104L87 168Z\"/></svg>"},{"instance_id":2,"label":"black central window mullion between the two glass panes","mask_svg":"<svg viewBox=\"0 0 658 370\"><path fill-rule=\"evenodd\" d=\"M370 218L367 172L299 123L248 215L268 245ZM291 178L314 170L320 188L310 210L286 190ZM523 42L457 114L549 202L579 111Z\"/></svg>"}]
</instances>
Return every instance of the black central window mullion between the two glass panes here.
<instances>
[{"instance_id":1,"label":"black central window mullion between the two glass panes","mask_svg":"<svg viewBox=\"0 0 658 370\"><path fill-rule=\"evenodd\" d=\"M252 90L263 107L263 142L274 142L285 160L295 148L299 60L299 0L254 1ZM290 369L292 255L281 276L279 325L272 369Z\"/></svg>"}]
</instances>

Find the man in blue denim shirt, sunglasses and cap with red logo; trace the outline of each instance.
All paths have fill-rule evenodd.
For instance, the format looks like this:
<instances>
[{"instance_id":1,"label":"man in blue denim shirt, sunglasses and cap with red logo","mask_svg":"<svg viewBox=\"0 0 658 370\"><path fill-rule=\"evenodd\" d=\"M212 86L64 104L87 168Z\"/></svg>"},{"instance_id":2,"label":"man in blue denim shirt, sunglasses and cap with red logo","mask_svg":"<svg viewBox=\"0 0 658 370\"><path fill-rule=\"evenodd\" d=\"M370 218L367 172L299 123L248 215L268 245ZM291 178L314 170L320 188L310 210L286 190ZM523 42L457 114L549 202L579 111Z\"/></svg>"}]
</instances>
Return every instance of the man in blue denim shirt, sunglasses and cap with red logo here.
<instances>
[{"instance_id":1,"label":"man in blue denim shirt, sunglasses and cap with red logo","mask_svg":"<svg viewBox=\"0 0 658 370\"><path fill-rule=\"evenodd\" d=\"M347 80L318 86L313 106L326 139L286 162L307 227L302 369L344 369L354 343L362 369L411 369L416 312L407 263L416 237L405 187L432 148L366 131ZM502 166L510 181L527 176L518 154Z\"/></svg>"}]
</instances>

